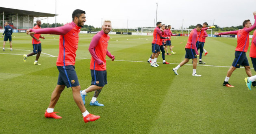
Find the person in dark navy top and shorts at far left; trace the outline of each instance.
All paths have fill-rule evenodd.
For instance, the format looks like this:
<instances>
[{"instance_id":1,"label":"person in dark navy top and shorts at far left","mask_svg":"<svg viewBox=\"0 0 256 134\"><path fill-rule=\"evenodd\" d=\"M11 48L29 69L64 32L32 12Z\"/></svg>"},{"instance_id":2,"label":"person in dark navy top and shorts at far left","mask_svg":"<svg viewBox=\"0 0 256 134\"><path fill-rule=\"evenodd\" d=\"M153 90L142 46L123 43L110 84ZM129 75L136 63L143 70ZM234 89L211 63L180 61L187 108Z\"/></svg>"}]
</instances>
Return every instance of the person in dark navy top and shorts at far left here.
<instances>
[{"instance_id":1,"label":"person in dark navy top and shorts at far left","mask_svg":"<svg viewBox=\"0 0 256 134\"><path fill-rule=\"evenodd\" d=\"M11 51L13 50L12 49L13 45L11 43L11 35L12 34L13 34L13 28L11 28L11 26L9 26L9 22L5 22L4 33L2 35L2 37L4 36L3 51L5 51L4 47L5 47L5 43L6 43L6 41L8 41L8 39L9 39L9 42L10 42Z\"/></svg>"}]
</instances>

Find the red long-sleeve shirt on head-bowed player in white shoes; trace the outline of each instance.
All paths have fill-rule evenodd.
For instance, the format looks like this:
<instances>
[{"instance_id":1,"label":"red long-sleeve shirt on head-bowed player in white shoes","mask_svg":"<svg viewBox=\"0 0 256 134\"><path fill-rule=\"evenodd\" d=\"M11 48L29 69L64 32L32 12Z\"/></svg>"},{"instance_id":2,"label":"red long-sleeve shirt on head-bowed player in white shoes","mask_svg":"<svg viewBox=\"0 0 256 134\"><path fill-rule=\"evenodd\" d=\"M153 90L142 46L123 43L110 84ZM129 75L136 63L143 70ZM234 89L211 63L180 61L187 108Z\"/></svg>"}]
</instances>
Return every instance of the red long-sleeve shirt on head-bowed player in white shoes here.
<instances>
[{"instance_id":1,"label":"red long-sleeve shirt on head-bowed player in white shoes","mask_svg":"<svg viewBox=\"0 0 256 134\"><path fill-rule=\"evenodd\" d=\"M191 30L191 32L189 34L189 39L187 41L187 45L185 46L185 48L194 49L195 53L198 55L198 51L197 51L197 49L195 49L196 48L195 42L198 39L197 33L198 32L197 32L196 28Z\"/></svg>"}]
</instances>

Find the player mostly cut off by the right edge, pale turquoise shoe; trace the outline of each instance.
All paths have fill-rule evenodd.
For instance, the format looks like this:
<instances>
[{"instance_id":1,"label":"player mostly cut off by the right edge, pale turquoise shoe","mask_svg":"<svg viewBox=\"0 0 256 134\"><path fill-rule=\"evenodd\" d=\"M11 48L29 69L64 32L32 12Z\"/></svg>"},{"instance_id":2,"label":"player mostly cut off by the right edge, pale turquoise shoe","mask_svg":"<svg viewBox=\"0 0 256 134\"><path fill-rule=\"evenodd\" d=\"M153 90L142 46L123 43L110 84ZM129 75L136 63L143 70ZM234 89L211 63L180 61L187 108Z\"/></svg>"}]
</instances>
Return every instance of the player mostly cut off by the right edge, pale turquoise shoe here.
<instances>
[{"instance_id":1,"label":"player mostly cut off by the right edge, pale turquoise shoe","mask_svg":"<svg viewBox=\"0 0 256 134\"><path fill-rule=\"evenodd\" d=\"M254 68L254 71L256 71L256 30L254 30L253 35L252 35L252 45L251 45L251 50L249 56L251 57L252 60L252 65ZM252 77L246 77L245 82L246 86L251 91L251 86L256 86L256 75Z\"/></svg>"}]
</instances>

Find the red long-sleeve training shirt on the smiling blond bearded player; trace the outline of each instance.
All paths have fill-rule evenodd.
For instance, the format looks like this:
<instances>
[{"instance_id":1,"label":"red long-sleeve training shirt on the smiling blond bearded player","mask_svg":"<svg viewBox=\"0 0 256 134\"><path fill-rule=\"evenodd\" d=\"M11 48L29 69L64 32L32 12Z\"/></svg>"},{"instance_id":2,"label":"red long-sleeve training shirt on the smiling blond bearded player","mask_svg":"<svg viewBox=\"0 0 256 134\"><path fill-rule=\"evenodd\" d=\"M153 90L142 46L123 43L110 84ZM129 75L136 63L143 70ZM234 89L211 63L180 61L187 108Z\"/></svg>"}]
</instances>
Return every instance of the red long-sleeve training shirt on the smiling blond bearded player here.
<instances>
[{"instance_id":1,"label":"red long-sleeve training shirt on the smiling blond bearded player","mask_svg":"<svg viewBox=\"0 0 256 134\"><path fill-rule=\"evenodd\" d=\"M114 56L108 52L109 35L105 34L103 30L93 36L89 46L89 52L91 53L91 70L104 71L106 70L106 55L109 58ZM103 63L103 64L102 64Z\"/></svg>"}]
</instances>

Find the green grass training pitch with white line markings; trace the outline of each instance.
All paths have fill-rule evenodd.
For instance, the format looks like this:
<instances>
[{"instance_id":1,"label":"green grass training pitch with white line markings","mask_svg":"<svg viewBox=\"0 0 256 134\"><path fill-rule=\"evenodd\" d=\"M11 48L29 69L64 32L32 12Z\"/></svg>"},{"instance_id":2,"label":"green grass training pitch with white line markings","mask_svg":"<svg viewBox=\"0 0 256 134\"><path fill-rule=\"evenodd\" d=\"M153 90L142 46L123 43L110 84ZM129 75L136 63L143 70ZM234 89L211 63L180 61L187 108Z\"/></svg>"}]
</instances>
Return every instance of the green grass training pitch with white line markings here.
<instances>
[{"instance_id":1,"label":"green grass training pitch with white line markings","mask_svg":"<svg viewBox=\"0 0 256 134\"><path fill-rule=\"evenodd\" d=\"M41 39L41 65L33 65L35 56L23 62L31 52L31 37L13 34L2 52L0 41L0 134L255 134L256 88L248 91L244 68L236 69L229 83L222 86L234 60L236 38L206 38L208 51L197 66L202 77L192 76L191 61L171 70L184 59L188 37L171 37L174 55L167 55L169 65L150 67L152 36L110 35L108 50L115 61L107 61L108 84L97 100L104 107L90 106L88 93L85 107L101 118L84 123L76 106L72 89L65 89L54 111L62 119L46 119L44 112L56 86L59 71L56 56L59 36ZM82 89L91 84L88 47L93 34L80 34L76 52L76 73ZM118 41L117 41L118 40ZM250 47L249 47L250 48ZM252 62L247 52L249 64ZM106 58L110 59L110 58ZM199 58L198 58L199 61ZM252 74L255 75L254 69Z\"/></svg>"}]
</instances>

